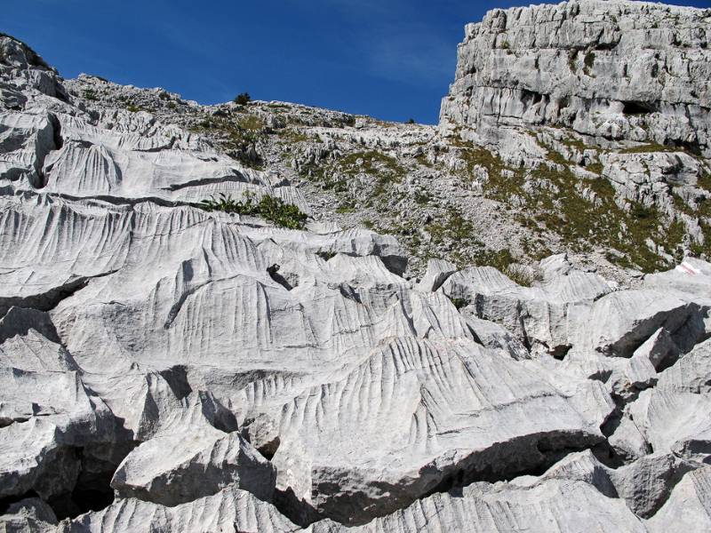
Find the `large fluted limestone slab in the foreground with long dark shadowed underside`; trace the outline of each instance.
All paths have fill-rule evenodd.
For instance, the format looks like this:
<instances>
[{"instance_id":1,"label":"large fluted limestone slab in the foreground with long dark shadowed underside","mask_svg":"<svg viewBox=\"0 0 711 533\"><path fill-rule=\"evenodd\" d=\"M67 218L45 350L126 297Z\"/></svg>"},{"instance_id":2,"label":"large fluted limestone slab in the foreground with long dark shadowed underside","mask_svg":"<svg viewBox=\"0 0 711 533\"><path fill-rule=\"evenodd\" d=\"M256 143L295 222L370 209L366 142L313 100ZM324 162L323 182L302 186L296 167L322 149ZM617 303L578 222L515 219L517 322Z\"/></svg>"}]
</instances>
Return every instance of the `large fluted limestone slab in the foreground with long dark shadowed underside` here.
<instances>
[{"instance_id":1,"label":"large fluted limestone slab in the foreground with long dark shadowed underside","mask_svg":"<svg viewBox=\"0 0 711 533\"><path fill-rule=\"evenodd\" d=\"M593 446L612 408L599 383L561 389L535 362L471 341L397 340L284 405L277 486L363 523L451 483L539 468L546 450Z\"/></svg>"}]
</instances>

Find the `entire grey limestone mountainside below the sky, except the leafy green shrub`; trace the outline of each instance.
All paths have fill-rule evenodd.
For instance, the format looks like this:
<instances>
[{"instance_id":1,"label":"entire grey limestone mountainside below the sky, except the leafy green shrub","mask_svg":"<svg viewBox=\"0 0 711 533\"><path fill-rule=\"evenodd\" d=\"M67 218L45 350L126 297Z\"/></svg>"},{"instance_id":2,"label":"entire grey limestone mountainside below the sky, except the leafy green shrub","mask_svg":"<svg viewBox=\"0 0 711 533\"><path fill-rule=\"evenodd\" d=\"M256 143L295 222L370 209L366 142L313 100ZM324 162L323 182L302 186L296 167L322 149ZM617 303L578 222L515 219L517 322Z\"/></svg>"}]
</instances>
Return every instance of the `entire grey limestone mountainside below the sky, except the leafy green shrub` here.
<instances>
[{"instance_id":1,"label":"entire grey limestone mountainside below the sky, except the leafy green shrub","mask_svg":"<svg viewBox=\"0 0 711 533\"><path fill-rule=\"evenodd\" d=\"M0 36L0 530L711 529L709 35L491 12L439 128L63 80ZM571 192L623 236L566 234Z\"/></svg>"}]
</instances>

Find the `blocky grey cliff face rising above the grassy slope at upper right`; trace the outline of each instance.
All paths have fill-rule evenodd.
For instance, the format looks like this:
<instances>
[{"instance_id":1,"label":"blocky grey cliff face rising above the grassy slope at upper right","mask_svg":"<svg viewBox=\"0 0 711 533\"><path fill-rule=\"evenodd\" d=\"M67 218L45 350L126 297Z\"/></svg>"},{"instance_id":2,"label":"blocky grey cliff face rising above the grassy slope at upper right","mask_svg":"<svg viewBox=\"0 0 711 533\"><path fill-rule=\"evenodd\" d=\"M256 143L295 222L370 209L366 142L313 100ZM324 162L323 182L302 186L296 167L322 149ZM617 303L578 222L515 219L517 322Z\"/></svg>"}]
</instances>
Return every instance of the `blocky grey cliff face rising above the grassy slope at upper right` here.
<instances>
[{"instance_id":1,"label":"blocky grey cliff face rising above the grassy slope at upper right","mask_svg":"<svg viewBox=\"0 0 711 533\"><path fill-rule=\"evenodd\" d=\"M443 123L496 141L500 126L688 147L711 156L711 10L581 0L489 12L469 24Z\"/></svg>"}]
</instances>

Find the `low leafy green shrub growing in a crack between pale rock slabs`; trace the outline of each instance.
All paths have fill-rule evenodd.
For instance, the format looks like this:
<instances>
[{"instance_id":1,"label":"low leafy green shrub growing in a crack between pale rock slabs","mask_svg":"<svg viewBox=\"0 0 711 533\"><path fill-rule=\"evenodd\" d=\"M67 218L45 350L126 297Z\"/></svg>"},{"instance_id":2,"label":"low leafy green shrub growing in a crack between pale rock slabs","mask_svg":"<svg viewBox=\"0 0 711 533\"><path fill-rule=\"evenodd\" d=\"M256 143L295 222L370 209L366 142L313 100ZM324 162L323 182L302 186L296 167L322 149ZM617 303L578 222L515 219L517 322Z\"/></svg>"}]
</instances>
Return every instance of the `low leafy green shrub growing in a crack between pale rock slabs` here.
<instances>
[{"instance_id":1,"label":"low leafy green shrub growing in a crack between pale rock slabs","mask_svg":"<svg viewBox=\"0 0 711 533\"><path fill-rule=\"evenodd\" d=\"M231 195L220 193L218 198L212 196L210 199L198 203L197 207L205 211L254 215L267 219L269 222L276 224L276 226L290 229L301 229L308 219L308 215L296 205L284 203L281 198L269 195L262 196L261 200L255 203L250 196L242 202L235 200Z\"/></svg>"}]
</instances>

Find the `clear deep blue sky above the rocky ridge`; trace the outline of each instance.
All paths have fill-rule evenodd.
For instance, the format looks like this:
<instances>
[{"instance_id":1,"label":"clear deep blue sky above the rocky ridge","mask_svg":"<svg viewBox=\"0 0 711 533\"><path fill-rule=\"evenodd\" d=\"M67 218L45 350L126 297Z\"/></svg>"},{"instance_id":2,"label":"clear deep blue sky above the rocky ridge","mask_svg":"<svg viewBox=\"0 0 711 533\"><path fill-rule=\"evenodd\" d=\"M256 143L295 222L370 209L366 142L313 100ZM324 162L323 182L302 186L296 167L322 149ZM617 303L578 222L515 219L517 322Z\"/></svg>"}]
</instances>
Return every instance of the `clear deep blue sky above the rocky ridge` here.
<instances>
[{"instance_id":1,"label":"clear deep blue sky above the rocky ridge","mask_svg":"<svg viewBox=\"0 0 711 533\"><path fill-rule=\"evenodd\" d=\"M711 7L711 0L672 4ZM212 104L249 91L435 123L467 22L528 0L2 0L0 31L65 77Z\"/></svg>"}]
</instances>

